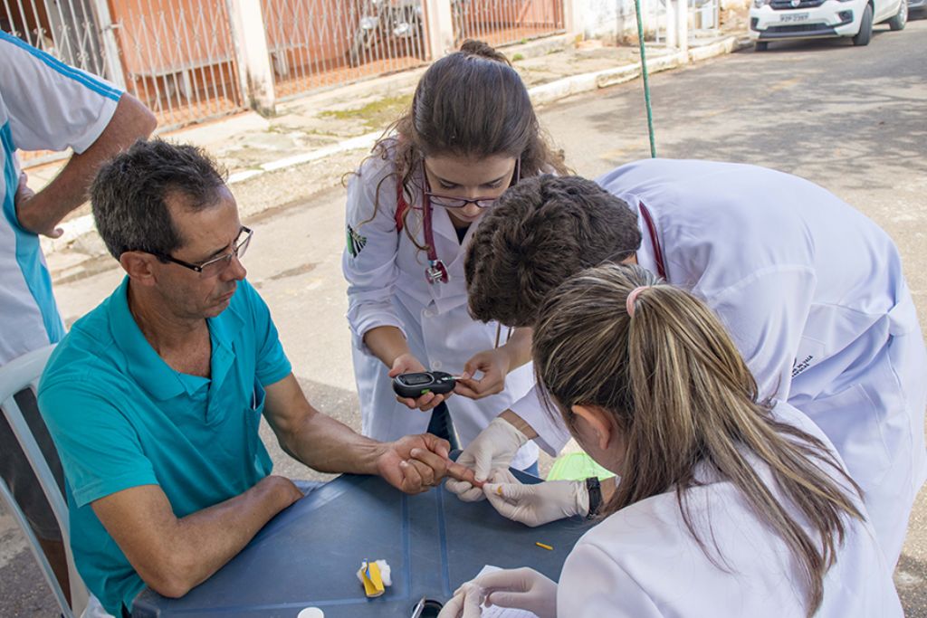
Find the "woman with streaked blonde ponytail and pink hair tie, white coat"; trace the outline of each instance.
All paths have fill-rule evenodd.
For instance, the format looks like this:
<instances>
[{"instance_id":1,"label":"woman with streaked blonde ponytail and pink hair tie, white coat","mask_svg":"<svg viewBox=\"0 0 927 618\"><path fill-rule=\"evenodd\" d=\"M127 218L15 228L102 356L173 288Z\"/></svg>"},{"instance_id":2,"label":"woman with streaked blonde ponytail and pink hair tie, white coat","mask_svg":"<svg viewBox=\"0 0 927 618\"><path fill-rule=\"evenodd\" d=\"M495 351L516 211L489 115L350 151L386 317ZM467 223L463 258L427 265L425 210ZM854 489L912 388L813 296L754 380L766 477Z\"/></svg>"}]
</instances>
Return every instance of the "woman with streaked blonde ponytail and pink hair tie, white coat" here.
<instances>
[{"instance_id":1,"label":"woman with streaked blonde ponytail and pink hair tie, white coat","mask_svg":"<svg viewBox=\"0 0 927 618\"><path fill-rule=\"evenodd\" d=\"M717 317L640 267L602 266L544 302L534 362L552 409L621 475L559 584L530 569L462 586L540 618L901 616L857 486L826 436L757 385ZM502 502L518 486L483 487ZM502 495L499 495L499 492Z\"/></svg>"}]
</instances>

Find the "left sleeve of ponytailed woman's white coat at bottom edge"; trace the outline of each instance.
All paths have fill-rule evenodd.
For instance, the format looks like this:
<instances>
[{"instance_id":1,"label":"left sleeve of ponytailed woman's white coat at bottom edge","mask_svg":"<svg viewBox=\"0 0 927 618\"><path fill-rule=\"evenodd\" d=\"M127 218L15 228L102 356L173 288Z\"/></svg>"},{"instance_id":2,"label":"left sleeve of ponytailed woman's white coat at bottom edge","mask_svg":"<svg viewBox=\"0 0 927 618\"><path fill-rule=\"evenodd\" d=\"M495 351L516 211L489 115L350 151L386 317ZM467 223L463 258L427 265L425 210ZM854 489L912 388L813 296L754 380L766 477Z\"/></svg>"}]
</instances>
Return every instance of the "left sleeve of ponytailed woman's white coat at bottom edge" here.
<instances>
[{"instance_id":1,"label":"left sleeve of ponytailed woman's white coat at bottom edge","mask_svg":"<svg viewBox=\"0 0 927 618\"><path fill-rule=\"evenodd\" d=\"M591 543L579 542L557 585L561 618L662 618L650 595L620 564Z\"/></svg>"}]
</instances>

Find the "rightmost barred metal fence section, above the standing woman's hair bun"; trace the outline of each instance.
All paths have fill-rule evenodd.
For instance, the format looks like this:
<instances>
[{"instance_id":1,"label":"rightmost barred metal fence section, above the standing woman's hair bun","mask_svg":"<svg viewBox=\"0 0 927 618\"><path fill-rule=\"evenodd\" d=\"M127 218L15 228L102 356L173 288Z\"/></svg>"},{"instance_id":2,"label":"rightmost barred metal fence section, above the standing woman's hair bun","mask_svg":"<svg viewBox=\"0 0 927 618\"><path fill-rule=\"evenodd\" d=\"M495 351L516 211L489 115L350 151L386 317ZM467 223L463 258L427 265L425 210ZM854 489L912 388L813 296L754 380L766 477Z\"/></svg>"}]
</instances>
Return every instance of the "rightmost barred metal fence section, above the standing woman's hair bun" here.
<instances>
[{"instance_id":1,"label":"rightmost barred metal fence section, above the standing woman's hair bun","mask_svg":"<svg viewBox=\"0 0 927 618\"><path fill-rule=\"evenodd\" d=\"M451 0L454 37L513 44L564 29L563 0Z\"/></svg>"}]
</instances>

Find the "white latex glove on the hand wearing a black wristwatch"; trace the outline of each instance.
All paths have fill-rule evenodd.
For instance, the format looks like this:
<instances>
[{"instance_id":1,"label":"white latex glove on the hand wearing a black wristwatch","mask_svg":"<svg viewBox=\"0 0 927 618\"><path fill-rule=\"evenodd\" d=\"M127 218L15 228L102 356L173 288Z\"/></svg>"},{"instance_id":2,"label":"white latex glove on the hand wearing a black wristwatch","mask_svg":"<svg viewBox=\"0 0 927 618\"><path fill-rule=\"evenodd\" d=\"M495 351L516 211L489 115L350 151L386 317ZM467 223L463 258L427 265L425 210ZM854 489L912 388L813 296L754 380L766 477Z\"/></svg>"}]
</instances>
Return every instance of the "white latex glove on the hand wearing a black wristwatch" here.
<instances>
[{"instance_id":1,"label":"white latex glove on the hand wearing a black wristwatch","mask_svg":"<svg viewBox=\"0 0 927 618\"><path fill-rule=\"evenodd\" d=\"M483 486L496 511L532 528L572 515L589 513L589 491L583 481L545 481L523 485L508 470L497 470Z\"/></svg>"}]
</instances>

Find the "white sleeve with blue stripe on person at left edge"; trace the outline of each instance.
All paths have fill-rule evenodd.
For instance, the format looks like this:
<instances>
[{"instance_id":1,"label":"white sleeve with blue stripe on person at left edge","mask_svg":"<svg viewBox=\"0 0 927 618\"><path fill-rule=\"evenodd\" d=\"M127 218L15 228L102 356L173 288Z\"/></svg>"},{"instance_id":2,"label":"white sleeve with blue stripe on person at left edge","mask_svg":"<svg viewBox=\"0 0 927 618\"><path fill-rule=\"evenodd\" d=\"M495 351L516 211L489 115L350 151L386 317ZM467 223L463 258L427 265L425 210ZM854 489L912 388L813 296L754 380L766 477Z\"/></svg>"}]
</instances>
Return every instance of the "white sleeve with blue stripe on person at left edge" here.
<instances>
[{"instance_id":1,"label":"white sleeve with blue stripe on person at left edge","mask_svg":"<svg viewBox=\"0 0 927 618\"><path fill-rule=\"evenodd\" d=\"M121 95L113 84L0 32L0 97L17 148L83 153L106 129Z\"/></svg>"}]
</instances>

